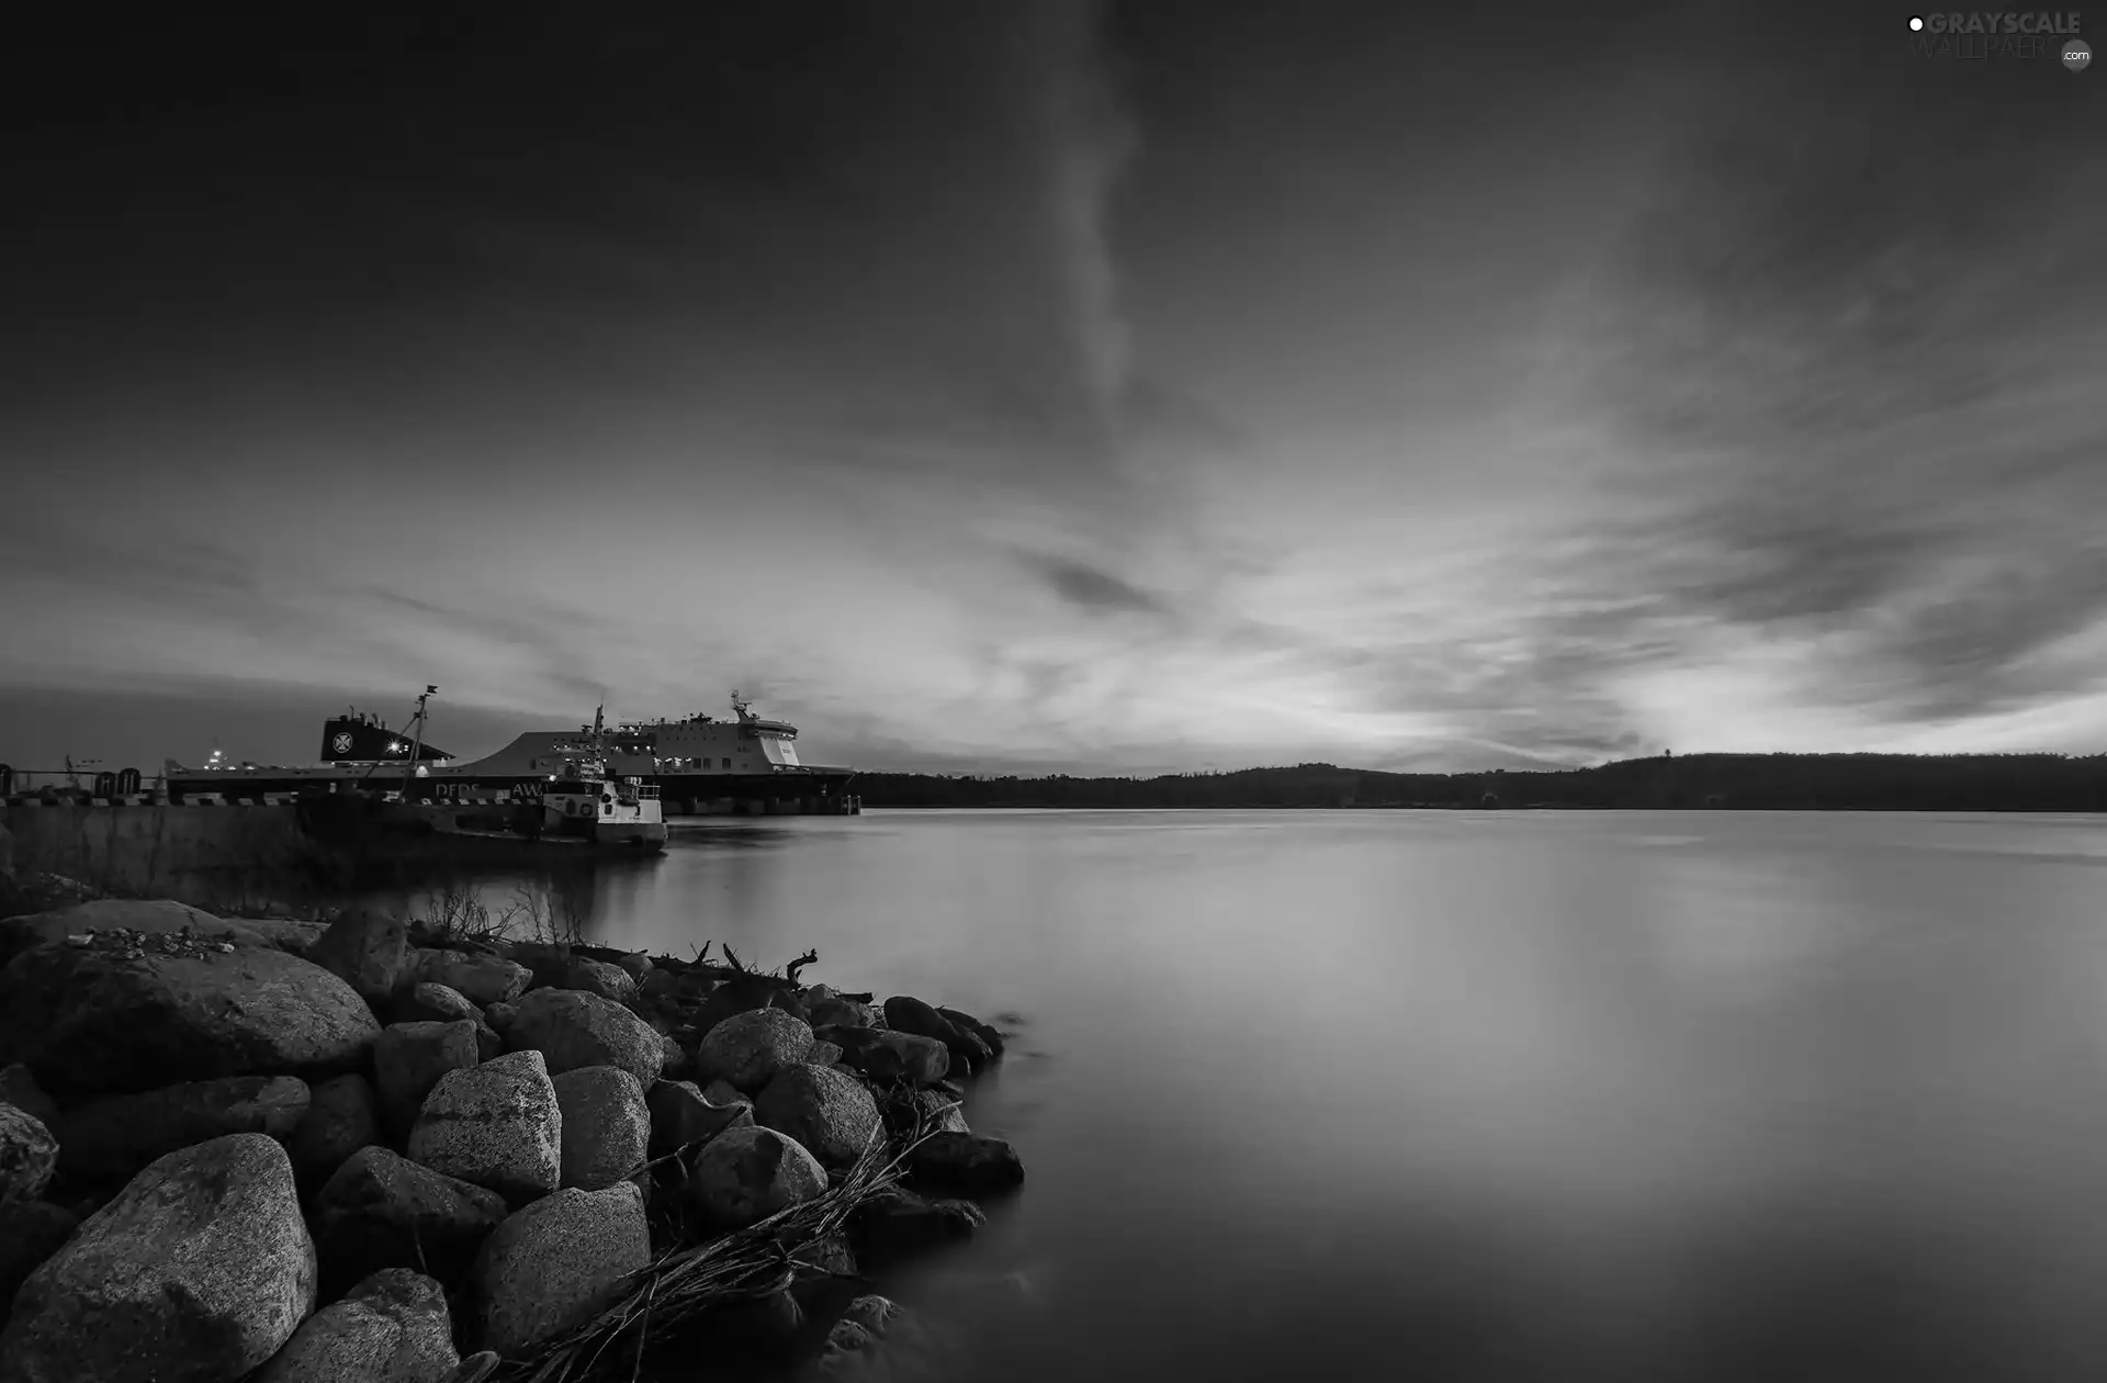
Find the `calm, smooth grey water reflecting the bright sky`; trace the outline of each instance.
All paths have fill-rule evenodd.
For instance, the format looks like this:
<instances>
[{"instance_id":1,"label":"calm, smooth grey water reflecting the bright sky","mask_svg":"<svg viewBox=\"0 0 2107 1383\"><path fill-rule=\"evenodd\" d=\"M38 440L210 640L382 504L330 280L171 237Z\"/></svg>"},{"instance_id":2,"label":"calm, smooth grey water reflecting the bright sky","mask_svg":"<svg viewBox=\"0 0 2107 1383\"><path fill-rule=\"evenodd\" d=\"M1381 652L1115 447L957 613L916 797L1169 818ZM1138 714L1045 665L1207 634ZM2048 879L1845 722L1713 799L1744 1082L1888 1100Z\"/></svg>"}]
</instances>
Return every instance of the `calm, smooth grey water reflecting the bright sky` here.
<instances>
[{"instance_id":1,"label":"calm, smooth grey water reflecting the bright sky","mask_svg":"<svg viewBox=\"0 0 2107 1383\"><path fill-rule=\"evenodd\" d=\"M931 1377L2107 1368L2094 818L780 818L592 930L1020 1018Z\"/></svg>"}]
</instances>

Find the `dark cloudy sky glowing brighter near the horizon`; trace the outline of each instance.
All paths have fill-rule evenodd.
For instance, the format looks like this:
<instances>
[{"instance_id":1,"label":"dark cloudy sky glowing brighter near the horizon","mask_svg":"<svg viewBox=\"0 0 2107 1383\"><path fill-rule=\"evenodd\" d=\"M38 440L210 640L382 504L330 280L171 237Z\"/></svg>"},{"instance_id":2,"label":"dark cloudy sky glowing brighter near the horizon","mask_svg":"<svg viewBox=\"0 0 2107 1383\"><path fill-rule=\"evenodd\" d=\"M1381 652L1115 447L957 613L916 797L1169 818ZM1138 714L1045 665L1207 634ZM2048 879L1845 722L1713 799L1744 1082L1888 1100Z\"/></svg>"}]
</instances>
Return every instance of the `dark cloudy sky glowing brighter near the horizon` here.
<instances>
[{"instance_id":1,"label":"dark cloudy sky glowing brighter near the horizon","mask_svg":"<svg viewBox=\"0 0 2107 1383\"><path fill-rule=\"evenodd\" d=\"M2107 70L1907 15L25 32L0 759L2107 751Z\"/></svg>"}]
</instances>

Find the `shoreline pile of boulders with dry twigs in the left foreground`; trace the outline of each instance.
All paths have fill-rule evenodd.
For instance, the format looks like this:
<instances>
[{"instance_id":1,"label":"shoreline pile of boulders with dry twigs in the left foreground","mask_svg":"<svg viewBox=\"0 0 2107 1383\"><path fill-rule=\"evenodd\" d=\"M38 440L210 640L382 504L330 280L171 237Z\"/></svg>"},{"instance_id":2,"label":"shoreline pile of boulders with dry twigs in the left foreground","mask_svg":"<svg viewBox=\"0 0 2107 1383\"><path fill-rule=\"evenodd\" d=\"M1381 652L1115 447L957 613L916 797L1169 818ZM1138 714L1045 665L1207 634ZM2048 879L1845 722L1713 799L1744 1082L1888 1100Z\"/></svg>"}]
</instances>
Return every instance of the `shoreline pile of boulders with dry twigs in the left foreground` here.
<instances>
[{"instance_id":1,"label":"shoreline pile of boulders with dry twigs in the left foreground","mask_svg":"<svg viewBox=\"0 0 2107 1383\"><path fill-rule=\"evenodd\" d=\"M963 1117L1003 1033L815 959L0 919L0 1383L889 1377L858 1273L1024 1179Z\"/></svg>"}]
</instances>

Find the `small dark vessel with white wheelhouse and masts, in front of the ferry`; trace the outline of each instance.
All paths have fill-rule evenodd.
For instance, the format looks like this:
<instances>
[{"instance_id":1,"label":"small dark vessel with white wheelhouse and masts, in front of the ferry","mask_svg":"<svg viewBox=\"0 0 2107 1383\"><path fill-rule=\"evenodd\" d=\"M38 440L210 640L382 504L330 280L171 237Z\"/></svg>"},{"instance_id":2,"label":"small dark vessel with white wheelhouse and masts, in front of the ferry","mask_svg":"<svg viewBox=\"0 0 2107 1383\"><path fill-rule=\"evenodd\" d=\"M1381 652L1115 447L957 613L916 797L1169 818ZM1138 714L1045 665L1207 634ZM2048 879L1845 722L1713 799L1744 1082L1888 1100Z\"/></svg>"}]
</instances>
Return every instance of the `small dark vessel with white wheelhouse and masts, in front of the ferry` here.
<instances>
[{"instance_id":1,"label":"small dark vessel with white wheelhouse and masts, in front of the ferry","mask_svg":"<svg viewBox=\"0 0 2107 1383\"><path fill-rule=\"evenodd\" d=\"M405 755L400 782L312 784L301 793L301 824L310 835L377 854L537 856L586 852L657 852L666 848L659 791L609 770L603 713L577 753L552 763L544 782L512 784L504 795L440 795L424 759L426 702L394 740ZM407 740L407 742L402 742ZM449 784L455 786L455 784Z\"/></svg>"}]
</instances>

